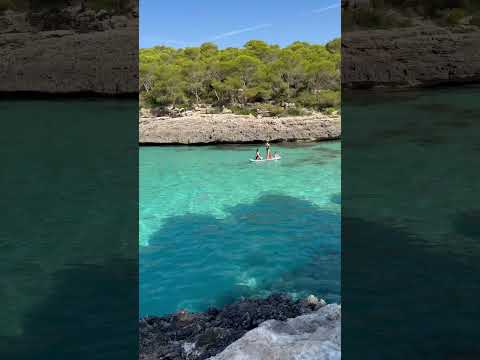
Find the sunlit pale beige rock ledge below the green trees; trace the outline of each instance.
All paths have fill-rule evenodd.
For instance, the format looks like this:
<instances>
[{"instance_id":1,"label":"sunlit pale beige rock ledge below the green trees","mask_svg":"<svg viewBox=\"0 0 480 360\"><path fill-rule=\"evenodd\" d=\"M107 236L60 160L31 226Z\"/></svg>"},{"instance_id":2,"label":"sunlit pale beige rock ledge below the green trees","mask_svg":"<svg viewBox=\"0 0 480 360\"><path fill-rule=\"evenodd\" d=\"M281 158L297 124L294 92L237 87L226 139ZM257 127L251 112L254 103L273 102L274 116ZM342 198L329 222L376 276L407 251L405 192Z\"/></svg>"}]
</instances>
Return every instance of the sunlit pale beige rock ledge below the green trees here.
<instances>
[{"instance_id":1,"label":"sunlit pale beige rock ledge below the green trees","mask_svg":"<svg viewBox=\"0 0 480 360\"><path fill-rule=\"evenodd\" d=\"M140 143L215 144L338 139L339 116L314 114L256 118L233 114L193 114L184 117L141 117Z\"/></svg>"}]
</instances>

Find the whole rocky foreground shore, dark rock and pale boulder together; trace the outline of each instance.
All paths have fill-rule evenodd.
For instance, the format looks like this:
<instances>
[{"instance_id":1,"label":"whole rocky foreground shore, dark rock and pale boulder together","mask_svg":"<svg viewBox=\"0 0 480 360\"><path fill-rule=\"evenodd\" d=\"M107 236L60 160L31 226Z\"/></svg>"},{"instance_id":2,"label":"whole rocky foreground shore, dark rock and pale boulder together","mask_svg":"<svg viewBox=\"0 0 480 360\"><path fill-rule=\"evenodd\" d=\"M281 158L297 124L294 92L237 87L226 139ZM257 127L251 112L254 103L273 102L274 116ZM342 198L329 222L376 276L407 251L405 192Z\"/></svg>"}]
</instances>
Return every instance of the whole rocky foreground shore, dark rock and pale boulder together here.
<instances>
[{"instance_id":1,"label":"whole rocky foreground shore, dark rock and pale boulder together","mask_svg":"<svg viewBox=\"0 0 480 360\"><path fill-rule=\"evenodd\" d=\"M139 359L340 359L341 307L313 295L242 299L222 309L139 320ZM277 340L273 341L272 339Z\"/></svg>"}]
</instances>

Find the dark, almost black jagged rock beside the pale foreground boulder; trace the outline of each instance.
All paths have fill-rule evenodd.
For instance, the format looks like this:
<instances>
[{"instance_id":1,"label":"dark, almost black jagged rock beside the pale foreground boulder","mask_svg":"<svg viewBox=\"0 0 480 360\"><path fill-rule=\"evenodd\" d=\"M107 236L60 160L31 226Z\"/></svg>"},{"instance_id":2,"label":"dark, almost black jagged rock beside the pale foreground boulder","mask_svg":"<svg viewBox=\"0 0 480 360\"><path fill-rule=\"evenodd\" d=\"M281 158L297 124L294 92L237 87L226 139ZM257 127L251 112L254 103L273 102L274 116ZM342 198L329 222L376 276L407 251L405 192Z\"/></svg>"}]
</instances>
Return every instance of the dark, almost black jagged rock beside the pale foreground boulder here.
<instances>
[{"instance_id":1,"label":"dark, almost black jagged rock beside the pale foreground boulder","mask_svg":"<svg viewBox=\"0 0 480 360\"><path fill-rule=\"evenodd\" d=\"M181 311L164 317L146 317L139 322L139 358L207 359L264 321L285 321L310 314L324 305L323 300L313 296L294 301L287 295L271 295L203 313Z\"/></svg>"}]
</instances>

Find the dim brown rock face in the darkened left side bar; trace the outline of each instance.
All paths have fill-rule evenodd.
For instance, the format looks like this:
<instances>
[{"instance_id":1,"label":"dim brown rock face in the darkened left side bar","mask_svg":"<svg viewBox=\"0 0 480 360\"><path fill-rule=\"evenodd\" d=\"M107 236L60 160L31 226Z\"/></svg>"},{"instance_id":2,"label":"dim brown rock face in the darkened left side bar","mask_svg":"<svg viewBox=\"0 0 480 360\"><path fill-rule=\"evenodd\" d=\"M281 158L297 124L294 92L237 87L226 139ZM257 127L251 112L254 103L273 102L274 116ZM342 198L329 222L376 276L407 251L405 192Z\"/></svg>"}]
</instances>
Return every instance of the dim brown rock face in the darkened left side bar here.
<instances>
[{"instance_id":1,"label":"dim brown rock face in the darkened left side bar","mask_svg":"<svg viewBox=\"0 0 480 360\"><path fill-rule=\"evenodd\" d=\"M0 17L0 92L138 91L138 19L70 10L55 24L47 15Z\"/></svg>"}]
</instances>

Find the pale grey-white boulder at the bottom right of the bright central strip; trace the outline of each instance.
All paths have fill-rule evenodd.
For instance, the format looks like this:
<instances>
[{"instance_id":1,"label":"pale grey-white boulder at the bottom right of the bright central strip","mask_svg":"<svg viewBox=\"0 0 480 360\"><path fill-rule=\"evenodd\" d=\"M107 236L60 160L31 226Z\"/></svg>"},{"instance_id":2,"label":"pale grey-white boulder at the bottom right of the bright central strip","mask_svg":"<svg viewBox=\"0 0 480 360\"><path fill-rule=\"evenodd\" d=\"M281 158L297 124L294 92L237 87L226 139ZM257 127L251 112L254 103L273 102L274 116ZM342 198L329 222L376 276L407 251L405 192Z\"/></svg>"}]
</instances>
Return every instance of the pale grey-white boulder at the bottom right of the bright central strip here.
<instances>
[{"instance_id":1,"label":"pale grey-white boulder at the bottom right of the bright central strip","mask_svg":"<svg viewBox=\"0 0 480 360\"><path fill-rule=\"evenodd\" d=\"M287 321L266 321L209 360L340 360L340 333L340 306L330 304Z\"/></svg>"}]
</instances>

